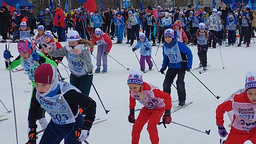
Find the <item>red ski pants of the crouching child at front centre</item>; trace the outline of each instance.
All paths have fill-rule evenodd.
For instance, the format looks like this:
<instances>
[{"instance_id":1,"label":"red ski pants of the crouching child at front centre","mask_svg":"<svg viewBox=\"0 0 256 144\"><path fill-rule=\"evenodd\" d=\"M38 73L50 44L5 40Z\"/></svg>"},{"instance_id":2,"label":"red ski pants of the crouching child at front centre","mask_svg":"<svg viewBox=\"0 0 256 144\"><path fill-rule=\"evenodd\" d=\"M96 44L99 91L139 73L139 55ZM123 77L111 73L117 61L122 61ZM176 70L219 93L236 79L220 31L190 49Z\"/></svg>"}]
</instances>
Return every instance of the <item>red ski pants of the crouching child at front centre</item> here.
<instances>
[{"instance_id":1,"label":"red ski pants of the crouching child at front centre","mask_svg":"<svg viewBox=\"0 0 256 144\"><path fill-rule=\"evenodd\" d=\"M133 125L132 144L139 144L140 132L143 126L149 121L147 131L152 144L159 144L159 137L156 125L160 122L161 117L165 111L165 107L157 109L147 109L143 107Z\"/></svg>"}]
</instances>

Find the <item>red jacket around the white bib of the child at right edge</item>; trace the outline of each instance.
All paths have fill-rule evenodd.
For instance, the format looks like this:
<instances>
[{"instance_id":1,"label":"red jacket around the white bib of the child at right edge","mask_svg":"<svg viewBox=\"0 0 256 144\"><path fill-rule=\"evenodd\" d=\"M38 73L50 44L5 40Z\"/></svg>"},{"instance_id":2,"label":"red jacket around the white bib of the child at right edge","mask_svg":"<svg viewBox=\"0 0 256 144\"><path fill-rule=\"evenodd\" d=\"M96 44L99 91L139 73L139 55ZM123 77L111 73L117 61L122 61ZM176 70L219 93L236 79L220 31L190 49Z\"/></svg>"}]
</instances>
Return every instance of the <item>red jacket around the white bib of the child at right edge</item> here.
<instances>
[{"instance_id":1,"label":"red jacket around the white bib of the child at right edge","mask_svg":"<svg viewBox=\"0 0 256 144\"><path fill-rule=\"evenodd\" d=\"M251 101L249 100L247 93L244 91L241 94L236 94L234 96L234 102L241 102L241 103L251 103ZM225 114L226 111L231 111L233 110L232 107L232 101L228 100L226 102L223 102L222 104L220 104L217 109L216 109L216 124L217 125L223 125L224 124L224 120L223 120L223 115ZM235 114L233 115L233 121L235 120L236 116ZM232 123L233 123L232 121ZM235 129L235 128L234 128ZM237 130L237 129L235 129ZM238 130L239 132L244 132L242 130ZM245 131L245 133L247 133Z\"/></svg>"}]
</instances>

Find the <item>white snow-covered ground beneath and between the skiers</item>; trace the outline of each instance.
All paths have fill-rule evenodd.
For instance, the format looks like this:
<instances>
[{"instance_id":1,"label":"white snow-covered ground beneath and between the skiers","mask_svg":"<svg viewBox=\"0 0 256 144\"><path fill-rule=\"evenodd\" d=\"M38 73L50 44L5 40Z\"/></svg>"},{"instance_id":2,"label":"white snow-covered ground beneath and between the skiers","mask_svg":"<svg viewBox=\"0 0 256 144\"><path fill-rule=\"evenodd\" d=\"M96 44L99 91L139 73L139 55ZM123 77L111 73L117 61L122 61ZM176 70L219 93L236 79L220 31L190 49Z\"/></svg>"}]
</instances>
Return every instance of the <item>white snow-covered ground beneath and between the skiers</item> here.
<instances>
[{"instance_id":1,"label":"white snow-covered ground beneath and between the skiers","mask_svg":"<svg viewBox=\"0 0 256 144\"><path fill-rule=\"evenodd\" d=\"M113 42L115 43L116 40ZM126 40L123 42L125 43ZM65 45L65 43L61 44L63 46ZM9 48L14 58L19 55L16 45L16 43L11 43ZM134 45L135 44L133 44L133 46ZM2 55L5 50L5 44L1 43L0 47L0 59L2 60L2 63L0 63L0 99L4 102L7 109L13 109L9 72L4 69L5 64ZM193 102L193 104L172 114L172 120L202 131L211 129L210 135L205 135L172 123L167 125L166 129L163 125L158 125L160 144L219 144L220 137L215 122L215 109L232 93L240 88L244 88L245 73L250 70L255 70L256 44L254 44L253 39L251 39L251 47L246 49L244 47L245 46L232 48L226 47L225 45L221 46L223 63L225 66L225 69L222 69L223 66L221 63L219 46L217 44L217 49L209 49L207 53L208 64L211 65L209 70L203 74L199 74L199 70L192 71L193 74L195 74L195 76L198 77L198 79L200 79L215 95L221 97L219 100L202 86L192 74L186 72L186 102ZM193 67L197 67L199 65L197 47L190 46L190 49L193 52ZM154 46L152 49L152 58L160 70L163 60L162 48L159 48L157 56L155 56L156 50L157 46ZM93 52L94 56L96 56L96 51L97 49ZM137 50L136 53L139 57L139 50ZM114 44L109 55L118 60L126 68L130 68L130 70L140 69L135 53L129 45ZM92 57L92 61L94 67L96 67L95 58ZM65 58L63 59L63 63L67 65L67 60ZM155 70L143 75L143 80L163 89L163 80L165 76L157 71L156 66L154 65L153 67ZM21 66L17 68L19 69ZM58 68L63 77L69 77L62 65L59 65ZM146 69L147 68L148 66L146 65ZM92 87L90 96L97 102L96 118L107 119L107 121L93 125L87 141L90 144L130 144L132 124L128 122L127 118L129 114L129 88L126 84L129 71L110 57L108 57L108 71L109 72L105 74L95 75L93 77L93 84L95 85L105 108L110 110L110 112L107 115L105 114L105 111L100 104L100 100ZM66 79L66 81L69 81L69 79ZM31 95L31 93L24 93L24 91L31 91L32 85L28 84L28 76L24 74L24 72L12 73L12 82L18 139L20 144L24 144L28 141L27 117ZM177 100L177 91L174 87L172 87L171 96L172 100ZM173 107L177 106L177 102L173 103ZM136 108L141 107L142 105L137 103ZM135 112L135 117L137 117L138 114L139 112ZM7 121L0 121L0 143L16 144L14 111L12 110L12 113L8 114L2 104L0 104L0 115L5 115L5 117L9 118ZM46 114L46 117L49 121L50 116ZM224 120L224 126L229 132L228 124L230 124L230 120L227 114L225 115ZM37 130L41 130L39 123L38 125ZM142 130L140 144L151 143L146 128L147 125L145 125ZM40 138L41 137L37 140L37 143L39 143ZM64 144L64 142L62 142L62 144ZM246 142L245 144L251 144L251 142Z\"/></svg>"}]
</instances>

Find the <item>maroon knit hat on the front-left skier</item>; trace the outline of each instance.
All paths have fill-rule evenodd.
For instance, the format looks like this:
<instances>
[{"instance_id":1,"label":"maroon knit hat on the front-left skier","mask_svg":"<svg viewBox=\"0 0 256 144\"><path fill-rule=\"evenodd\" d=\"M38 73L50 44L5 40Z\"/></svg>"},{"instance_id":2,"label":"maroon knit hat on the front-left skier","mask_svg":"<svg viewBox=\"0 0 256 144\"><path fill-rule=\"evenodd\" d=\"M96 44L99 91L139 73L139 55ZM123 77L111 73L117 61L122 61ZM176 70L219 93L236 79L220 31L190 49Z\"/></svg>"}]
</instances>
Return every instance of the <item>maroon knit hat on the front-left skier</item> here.
<instances>
[{"instance_id":1,"label":"maroon knit hat on the front-left skier","mask_svg":"<svg viewBox=\"0 0 256 144\"><path fill-rule=\"evenodd\" d=\"M53 74L52 65L44 63L37 67L37 70L35 71L35 83L51 84Z\"/></svg>"}]
</instances>

